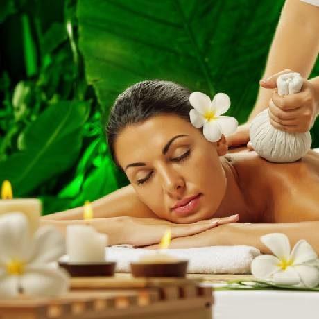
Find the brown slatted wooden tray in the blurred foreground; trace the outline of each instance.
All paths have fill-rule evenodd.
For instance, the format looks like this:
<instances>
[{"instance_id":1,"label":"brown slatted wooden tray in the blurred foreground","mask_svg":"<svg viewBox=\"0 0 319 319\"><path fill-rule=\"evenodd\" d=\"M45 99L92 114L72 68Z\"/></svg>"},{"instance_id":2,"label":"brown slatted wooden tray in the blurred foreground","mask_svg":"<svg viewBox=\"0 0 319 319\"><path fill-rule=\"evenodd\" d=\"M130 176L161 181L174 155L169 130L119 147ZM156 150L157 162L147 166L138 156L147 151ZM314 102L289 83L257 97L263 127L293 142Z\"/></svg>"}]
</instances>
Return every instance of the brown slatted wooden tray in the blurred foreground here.
<instances>
[{"instance_id":1,"label":"brown slatted wooden tray in the blurred foreground","mask_svg":"<svg viewBox=\"0 0 319 319\"><path fill-rule=\"evenodd\" d=\"M212 303L196 279L78 277L60 298L0 300L0 319L211 319Z\"/></svg>"}]
</instances>

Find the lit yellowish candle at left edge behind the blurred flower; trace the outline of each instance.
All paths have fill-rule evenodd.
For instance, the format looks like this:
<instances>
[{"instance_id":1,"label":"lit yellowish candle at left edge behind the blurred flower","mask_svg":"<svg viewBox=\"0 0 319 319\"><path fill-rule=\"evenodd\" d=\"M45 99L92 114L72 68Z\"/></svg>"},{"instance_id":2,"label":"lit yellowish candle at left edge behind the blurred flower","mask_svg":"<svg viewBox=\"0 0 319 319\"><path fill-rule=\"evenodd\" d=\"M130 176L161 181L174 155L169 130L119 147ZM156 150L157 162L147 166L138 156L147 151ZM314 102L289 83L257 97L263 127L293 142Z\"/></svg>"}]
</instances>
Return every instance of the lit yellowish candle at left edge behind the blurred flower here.
<instances>
[{"instance_id":1,"label":"lit yellowish candle at left edge behind the blurred flower","mask_svg":"<svg viewBox=\"0 0 319 319\"><path fill-rule=\"evenodd\" d=\"M30 225L31 234L40 224L42 205L37 198L13 198L12 187L5 180L1 187L0 214L21 212L26 215Z\"/></svg>"}]
</instances>

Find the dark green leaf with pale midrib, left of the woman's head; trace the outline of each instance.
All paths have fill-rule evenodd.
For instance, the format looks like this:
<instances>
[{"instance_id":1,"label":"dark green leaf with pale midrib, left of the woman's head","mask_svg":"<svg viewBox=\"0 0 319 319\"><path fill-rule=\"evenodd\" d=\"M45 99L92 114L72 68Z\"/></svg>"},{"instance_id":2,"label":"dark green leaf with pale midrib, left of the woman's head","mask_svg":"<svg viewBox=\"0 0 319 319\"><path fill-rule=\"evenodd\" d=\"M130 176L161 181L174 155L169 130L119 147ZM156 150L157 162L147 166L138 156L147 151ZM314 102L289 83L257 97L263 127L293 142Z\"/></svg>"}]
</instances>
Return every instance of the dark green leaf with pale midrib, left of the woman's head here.
<instances>
[{"instance_id":1,"label":"dark green leaf with pale midrib, left of the woman's head","mask_svg":"<svg viewBox=\"0 0 319 319\"><path fill-rule=\"evenodd\" d=\"M89 103L62 101L46 108L19 137L20 151L0 162L0 181L10 180L16 196L25 196L77 159Z\"/></svg>"}]
</instances>

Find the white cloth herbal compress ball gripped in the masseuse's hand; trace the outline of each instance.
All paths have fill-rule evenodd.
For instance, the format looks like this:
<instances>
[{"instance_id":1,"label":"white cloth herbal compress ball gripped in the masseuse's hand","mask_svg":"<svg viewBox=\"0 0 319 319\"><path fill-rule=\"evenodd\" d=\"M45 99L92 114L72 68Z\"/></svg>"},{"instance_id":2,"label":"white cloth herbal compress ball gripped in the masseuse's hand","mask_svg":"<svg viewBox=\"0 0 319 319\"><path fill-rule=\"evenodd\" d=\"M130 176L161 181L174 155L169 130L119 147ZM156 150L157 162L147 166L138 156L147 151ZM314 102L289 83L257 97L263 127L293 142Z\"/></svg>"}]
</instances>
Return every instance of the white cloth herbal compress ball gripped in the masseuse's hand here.
<instances>
[{"instance_id":1,"label":"white cloth herbal compress ball gripped in the masseuse's hand","mask_svg":"<svg viewBox=\"0 0 319 319\"><path fill-rule=\"evenodd\" d=\"M277 78L279 95L298 93L303 80L298 73L282 74ZM268 108L260 112L250 125L250 141L257 154L269 162L295 162L311 147L311 135L288 133L270 124Z\"/></svg>"}]
</instances>

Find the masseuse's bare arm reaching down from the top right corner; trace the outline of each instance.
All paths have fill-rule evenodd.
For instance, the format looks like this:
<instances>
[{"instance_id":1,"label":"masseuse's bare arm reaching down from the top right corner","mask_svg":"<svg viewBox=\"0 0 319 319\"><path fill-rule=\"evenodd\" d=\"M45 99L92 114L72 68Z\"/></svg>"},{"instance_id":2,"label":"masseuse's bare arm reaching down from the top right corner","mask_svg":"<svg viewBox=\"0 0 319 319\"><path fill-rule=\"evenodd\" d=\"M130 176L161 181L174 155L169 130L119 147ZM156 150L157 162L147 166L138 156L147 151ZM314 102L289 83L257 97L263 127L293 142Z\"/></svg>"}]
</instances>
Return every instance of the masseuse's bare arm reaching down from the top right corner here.
<instances>
[{"instance_id":1,"label":"masseuse's bare arm reaching down from the top right corner","mask_svg":"<svg viewBox=\"0 0 319 319\"><path fill-rule=\"evenodd\" d=\"M319 52L319 7L300 0L286 0L270 46L264 78L284 69L308 78ZM248 121L268 107L271 89L259 88Z\"/></svg>"}]
</instances>

